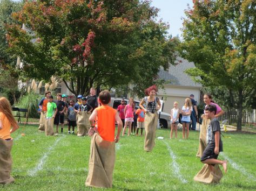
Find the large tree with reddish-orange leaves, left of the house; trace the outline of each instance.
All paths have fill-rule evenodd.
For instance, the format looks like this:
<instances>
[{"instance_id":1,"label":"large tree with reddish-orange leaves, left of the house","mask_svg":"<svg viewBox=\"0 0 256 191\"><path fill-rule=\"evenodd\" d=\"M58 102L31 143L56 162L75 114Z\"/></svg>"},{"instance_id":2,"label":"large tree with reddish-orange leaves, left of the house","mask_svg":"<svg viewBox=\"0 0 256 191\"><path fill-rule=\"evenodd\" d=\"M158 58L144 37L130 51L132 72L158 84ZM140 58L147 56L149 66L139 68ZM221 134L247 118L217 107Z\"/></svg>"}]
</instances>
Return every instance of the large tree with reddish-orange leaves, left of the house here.
<instances>
[{"instance_id":1,"label":"large tree with reddish-orange leaves, left of the house","mask_svg":"<svg viewBox=\"0 0 256 191\"><path fill-rule=\"evenodd\" d=\"M21 75L59 76L75 95L129 83L142 93L175 56L157 12L139 0L26 2L15 18L28 30L9 27L10 51L23 60Z\"/></svg>"}]
</instances>

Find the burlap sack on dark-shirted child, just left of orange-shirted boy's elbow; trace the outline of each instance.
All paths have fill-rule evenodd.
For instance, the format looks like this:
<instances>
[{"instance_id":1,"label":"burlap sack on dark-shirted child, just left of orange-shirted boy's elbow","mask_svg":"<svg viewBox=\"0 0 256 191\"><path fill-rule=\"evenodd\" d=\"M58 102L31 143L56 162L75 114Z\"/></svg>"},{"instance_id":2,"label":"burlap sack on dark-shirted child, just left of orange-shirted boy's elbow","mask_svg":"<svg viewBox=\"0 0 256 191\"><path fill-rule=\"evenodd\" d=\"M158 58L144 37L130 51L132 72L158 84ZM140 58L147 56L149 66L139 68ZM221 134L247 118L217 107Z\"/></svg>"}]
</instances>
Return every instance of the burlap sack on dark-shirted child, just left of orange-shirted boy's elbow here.
<instances>
[{"instance_id":1,"label":"burlap sack on dark-shirted child, just left of orange-shirted boy's elbow","mask_svg":"<svg viewBox=\"0 0 256 191\"><path fill-rule=\"evenodd\" d=\"M77 136L87 136L90 129L89 117L91 112L79 111L77 114Z\"/></svg>"}]
</instances>

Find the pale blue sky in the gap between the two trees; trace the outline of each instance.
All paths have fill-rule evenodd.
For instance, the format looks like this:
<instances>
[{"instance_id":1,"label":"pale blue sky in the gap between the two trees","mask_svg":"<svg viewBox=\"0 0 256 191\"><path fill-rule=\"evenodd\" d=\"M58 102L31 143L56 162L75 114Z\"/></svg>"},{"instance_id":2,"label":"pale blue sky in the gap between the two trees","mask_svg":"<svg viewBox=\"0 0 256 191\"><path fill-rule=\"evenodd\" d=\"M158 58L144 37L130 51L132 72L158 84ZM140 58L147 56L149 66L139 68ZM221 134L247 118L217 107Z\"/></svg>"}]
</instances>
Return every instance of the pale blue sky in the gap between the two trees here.
<instances>
[{"instance_id":1,"label":"pale blue sky in the gap between the two trees","mask_svg":"<svg viewBox=\"0 0 256 191\"><path fill-rule=\"evenodd\" d=\"M187 4L193 6L192 0L151 0L152 6L160 9L158 13L159 19L169 23L169 34L176 37L177 34L181 37L180 28L182 27L181 17L185 17L184 10L187 9ZM158 20L159 20L158 19Z\"/></svg>"}]
</instances>

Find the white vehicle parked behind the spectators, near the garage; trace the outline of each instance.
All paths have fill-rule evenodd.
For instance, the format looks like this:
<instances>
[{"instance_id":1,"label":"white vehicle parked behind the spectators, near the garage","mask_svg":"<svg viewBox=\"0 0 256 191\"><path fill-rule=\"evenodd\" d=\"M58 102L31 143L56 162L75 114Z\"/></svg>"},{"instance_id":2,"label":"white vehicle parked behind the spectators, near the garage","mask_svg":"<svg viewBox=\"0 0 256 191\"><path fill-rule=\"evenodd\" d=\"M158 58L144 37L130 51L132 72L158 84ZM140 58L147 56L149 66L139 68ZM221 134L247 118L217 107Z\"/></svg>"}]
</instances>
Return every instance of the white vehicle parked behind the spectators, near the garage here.
<instances>
[{"instance_id":1,"label":"white vehicle parked behind the spectators, near the garage","mask_svg":"<svg viewBox=\"0 0 256 191\"><path fill-rule=\"evenodd\" d=\"M121 104L122 99L123 99L122 97L111 97L111 102L109 103L109 105L112 108L117 109L118 105ZM124 98L124 100L125 100L125 104L129 103L129 99ZM134 100L134 102L135 102L135 109L138 109L140 101ZM159 113L160 113L159 127L160 128L170 128L170 114L167 114L166 112L159 112Z\"/></svg>"}]
</instances>

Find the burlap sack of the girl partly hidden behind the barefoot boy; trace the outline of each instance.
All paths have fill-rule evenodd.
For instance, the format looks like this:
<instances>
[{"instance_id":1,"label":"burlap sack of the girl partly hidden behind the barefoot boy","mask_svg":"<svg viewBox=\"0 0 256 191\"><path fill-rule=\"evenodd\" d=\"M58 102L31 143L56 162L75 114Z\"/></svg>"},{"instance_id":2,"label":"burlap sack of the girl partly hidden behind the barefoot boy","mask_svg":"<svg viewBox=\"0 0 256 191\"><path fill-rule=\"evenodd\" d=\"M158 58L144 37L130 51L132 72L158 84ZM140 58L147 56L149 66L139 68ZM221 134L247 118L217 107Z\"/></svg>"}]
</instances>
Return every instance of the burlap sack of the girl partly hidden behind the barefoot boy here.
<instances>
[{"instance_id":1,"label":"burlap sack of the girl partly hidden behind the barefoot boy","mask_svg":"<svg viewBox=\"0 0 256 191\"><path fill-rule=\"evenodd\" d=\"M196 156L199 158L201 158L207 146L206 135L207 135L207 128L210 122L211 122L210 119L203 118L203 122L200 129L200 136L199 136L199 147L198 147L198 152L196 154Z\"/></svg>"}]
</instances>

